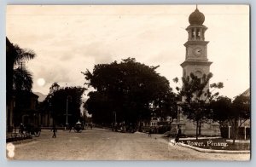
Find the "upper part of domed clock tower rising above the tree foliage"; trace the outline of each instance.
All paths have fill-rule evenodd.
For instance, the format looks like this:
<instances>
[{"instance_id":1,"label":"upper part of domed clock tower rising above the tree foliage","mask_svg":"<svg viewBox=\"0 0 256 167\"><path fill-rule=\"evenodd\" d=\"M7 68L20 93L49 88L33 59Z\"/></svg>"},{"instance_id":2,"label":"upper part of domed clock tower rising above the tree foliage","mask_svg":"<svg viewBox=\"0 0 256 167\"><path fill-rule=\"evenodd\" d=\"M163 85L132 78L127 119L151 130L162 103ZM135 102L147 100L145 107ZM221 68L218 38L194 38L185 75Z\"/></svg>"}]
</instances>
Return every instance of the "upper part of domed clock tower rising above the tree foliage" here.
<instances>
[{"instance_id":1,"label":"upper part of domed clock tower rising above the tree foliage","mask_svg":"<svg viewBox=\"0 0 256 167\"><path fill-rule=\"evenodd\" d=\"M204 26L205 15L202 14L196 6L195 11L189 15L189 26L186 28L189 37L184 43L186 47L186 58L181 64L183 67L183 78L190 75L191 72L197 78L201 78L203 74L210 72L211 61L207 58L207 44L205 41L205 32L207 26ZM209 84L205 89L209 89Z\"/></svg>"}]
</instances>

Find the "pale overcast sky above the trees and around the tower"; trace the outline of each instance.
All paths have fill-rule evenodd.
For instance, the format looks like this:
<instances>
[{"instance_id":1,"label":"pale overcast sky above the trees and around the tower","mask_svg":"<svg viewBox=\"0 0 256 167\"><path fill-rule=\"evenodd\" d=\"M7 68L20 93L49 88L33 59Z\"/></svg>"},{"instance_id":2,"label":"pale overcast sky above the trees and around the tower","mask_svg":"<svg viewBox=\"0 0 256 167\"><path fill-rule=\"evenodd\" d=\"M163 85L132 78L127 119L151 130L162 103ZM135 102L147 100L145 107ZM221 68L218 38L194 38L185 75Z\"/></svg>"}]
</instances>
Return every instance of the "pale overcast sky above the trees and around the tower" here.
<instances>
[{"instance_id":1,"label":"pale overcast sky above the trees and around the tower","mask_svg":"<svg viewBox=\"0 0 256 167\"><path fill-rule=\"evenodd\" d=\"M198 9L208 27L211 83L223 82L220 94L233 98L250 86L249 7L199 5ZM8 6L6 33L11 43L37 54L26 66L33 75L33 91L45 95L54 82L83 86L81 72L128 57L160 65L157 72L174 88L172 78L182 77L185 29L194 10L195 5Z\"/></svg>"}]
</instances>

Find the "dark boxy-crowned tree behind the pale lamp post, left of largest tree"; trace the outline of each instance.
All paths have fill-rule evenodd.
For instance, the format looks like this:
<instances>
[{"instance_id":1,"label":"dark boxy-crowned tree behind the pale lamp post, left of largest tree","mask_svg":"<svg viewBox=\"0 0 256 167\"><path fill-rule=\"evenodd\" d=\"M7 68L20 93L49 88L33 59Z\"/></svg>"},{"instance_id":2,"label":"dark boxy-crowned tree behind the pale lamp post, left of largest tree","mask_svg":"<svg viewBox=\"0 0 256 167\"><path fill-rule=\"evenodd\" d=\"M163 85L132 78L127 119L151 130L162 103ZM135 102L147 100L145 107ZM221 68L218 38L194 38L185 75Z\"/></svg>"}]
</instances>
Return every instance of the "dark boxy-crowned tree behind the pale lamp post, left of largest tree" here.
<instances>
[{"instance_id":1,"label":"dark boxy-crowned tree behind the pale lamp post, left of largest tree","mask_svg":"<svg viewBox=\"0 0 256 167\"><path fill-rule=\"evenodd\" d=\"M82 87L60 87L58 83L52 84L49 90L50 93L43 103L45 109L49 110L50 106L50 112L55 124L66 124L67 112L69 114L68 124L75 124L79 121L84 90L85 88Z\"/></svg>"}]
</instances>

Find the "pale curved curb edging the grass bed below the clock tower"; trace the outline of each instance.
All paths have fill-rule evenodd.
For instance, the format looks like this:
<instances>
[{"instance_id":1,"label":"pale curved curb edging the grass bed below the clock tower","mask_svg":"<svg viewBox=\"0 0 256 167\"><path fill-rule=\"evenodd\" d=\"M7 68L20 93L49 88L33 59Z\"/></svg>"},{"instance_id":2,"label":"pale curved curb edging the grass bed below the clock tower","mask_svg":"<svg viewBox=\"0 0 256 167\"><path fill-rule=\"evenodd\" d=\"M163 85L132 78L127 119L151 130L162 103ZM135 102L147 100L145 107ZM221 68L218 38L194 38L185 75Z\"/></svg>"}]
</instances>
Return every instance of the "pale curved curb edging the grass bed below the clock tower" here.
<instances>
[{"instance_id":1,"label":"pale curved curb edging the grass bed below the clock tower","mask_svg":"<svg viewBox=\"0 0 256 167\"><path fill-rule=\"evenodd\" d=\"M169 145L172 145L172 143L175 143L175 141L169 141ZM243 151L238 151L238 150L210 150L210 149L205 149L205 148L199 148L199 147L192 147L184 143L177 143L178 146L182 147L188 147L190 149L193 149L195 151L201 152L201 153L251 153L249 150L243 150Z\"/></svg>"}]
</instances>

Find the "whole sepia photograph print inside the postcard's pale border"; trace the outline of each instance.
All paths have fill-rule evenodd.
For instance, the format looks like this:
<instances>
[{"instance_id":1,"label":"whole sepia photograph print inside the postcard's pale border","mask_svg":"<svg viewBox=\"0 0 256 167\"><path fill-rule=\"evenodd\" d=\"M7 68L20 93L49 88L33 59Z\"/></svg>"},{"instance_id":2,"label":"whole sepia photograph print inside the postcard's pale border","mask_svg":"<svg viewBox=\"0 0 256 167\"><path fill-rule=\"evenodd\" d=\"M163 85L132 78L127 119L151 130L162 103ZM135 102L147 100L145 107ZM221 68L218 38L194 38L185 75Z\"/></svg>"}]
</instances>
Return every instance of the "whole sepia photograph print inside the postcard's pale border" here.
<instances>
[{"instance_id":1,"label":"whole sepia photograph print inside the postcard's pale border","mask_svg":"<svg viewBox=\"0 0 256 167\"><path fill-rule=\"evenodd\" d=\"M6 158L249 161L250 6L7 5Z\"/></svg>"}]
</instances>

